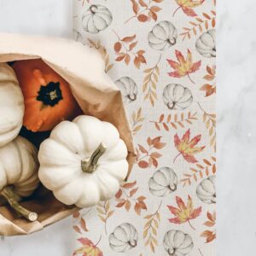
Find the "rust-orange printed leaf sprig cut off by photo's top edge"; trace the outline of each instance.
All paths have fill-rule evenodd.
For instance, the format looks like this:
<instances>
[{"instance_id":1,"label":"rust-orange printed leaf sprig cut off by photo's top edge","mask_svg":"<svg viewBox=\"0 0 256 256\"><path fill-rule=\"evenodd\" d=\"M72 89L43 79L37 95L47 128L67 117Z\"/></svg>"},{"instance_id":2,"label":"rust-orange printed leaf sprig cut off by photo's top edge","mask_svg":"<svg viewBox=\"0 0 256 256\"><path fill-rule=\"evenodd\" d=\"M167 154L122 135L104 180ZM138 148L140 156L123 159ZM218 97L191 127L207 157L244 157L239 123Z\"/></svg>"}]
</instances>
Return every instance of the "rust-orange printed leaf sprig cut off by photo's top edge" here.
<instances>
[{"instance_id":1,"label":"rust-orange printed leaf sprig cut off by photo's top edge","mask_svg":"<svg viewBox=\"0 0 256 256\"><path fill-rule=\"evenodd\" d=\"M161 10L160 7L155 5L156 3L161 3L163 0L149 0L147 3L144 0L131 0L132 10L134 15L131 16L125 23L130 20L137 18L140 22L146 22L151 19L157 20L157 13ZM151 5L154 3L154 5ZM142 9L141 9L142 8Z\"/></svg>"}]
</instances>

